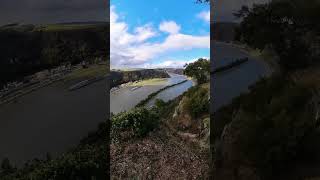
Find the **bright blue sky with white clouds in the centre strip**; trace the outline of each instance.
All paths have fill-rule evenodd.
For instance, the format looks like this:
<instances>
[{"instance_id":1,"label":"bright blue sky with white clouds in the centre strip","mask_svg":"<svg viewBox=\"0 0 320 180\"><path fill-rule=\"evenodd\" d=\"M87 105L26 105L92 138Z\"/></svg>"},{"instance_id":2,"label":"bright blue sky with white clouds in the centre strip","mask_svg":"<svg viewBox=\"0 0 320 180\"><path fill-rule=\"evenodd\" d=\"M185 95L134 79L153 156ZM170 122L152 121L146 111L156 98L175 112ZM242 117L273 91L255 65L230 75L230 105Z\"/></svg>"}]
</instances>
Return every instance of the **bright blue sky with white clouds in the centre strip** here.
<instances>
[{"instance_id":1,"label":"bright blue sky with white clouds in the centre strip","mask_svg":"<svg viewBox=\"0 0 320 180\"><path fill-rule=\"evenodd\" d=\"M195 0L111 0L111 68L182 67L210 57L210 7Z\"/></svg>"}]
</instances>

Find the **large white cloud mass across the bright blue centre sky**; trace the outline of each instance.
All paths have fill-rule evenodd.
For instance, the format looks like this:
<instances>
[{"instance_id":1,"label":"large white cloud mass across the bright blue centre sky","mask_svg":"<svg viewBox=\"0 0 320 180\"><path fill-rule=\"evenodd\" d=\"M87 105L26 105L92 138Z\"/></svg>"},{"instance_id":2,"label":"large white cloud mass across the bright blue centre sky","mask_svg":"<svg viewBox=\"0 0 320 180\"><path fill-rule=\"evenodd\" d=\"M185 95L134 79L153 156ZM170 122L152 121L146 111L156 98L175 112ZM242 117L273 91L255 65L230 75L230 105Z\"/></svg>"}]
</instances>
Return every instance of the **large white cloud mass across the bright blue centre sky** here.
<instances>
[{"instance_id":1,"label":"large white cloud mass across the bright blue centre sky","mask_svg":"<svg viewBox=\"0 0 320 180\"><path fill-rule=\"evenodd\" d=\"M136 27L133 33L120 20L115 7L110 9L110 61L112 67L143 66L153 58L171 51L210 48L210 36L193 36L179 33L180 26L174 21L162 22L161 31L168 32L163 42L150 43L158 35L151 23Z\"/></svg>"}]
</instances>

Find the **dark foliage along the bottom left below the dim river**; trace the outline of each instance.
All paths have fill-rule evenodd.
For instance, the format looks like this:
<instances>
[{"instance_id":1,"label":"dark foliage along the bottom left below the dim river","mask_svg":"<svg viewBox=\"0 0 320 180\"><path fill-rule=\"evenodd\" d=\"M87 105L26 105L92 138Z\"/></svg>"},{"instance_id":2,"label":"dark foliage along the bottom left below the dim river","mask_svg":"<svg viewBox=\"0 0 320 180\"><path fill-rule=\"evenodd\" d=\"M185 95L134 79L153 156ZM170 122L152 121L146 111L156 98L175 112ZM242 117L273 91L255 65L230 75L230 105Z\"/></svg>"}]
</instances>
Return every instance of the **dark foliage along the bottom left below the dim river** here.
<instances>
[{"instance_id":1,"label":"dark foliage along the bottom left below the dim river","mask_svg":"<svg viewBox=\"0 0 320 180\"><path fill-rule=\"evenodd\" d=\"M108 142L107 124L102 123L96 132L84 138L70 152L55 159L50 156L46 160L34 159L25 164L22 169L15 169L9 160L2 162L1 180L86 180L107 179Z\"/></svg>"}]
</instances>

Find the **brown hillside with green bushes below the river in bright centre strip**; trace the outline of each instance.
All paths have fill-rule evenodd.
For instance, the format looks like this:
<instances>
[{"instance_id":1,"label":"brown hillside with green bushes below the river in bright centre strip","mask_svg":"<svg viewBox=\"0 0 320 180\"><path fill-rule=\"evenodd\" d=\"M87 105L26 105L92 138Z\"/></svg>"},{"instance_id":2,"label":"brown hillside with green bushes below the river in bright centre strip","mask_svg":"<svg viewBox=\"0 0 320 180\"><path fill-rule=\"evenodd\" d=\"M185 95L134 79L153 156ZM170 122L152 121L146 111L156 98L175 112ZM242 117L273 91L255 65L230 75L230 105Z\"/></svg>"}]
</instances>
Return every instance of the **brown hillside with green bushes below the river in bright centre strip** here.
<instances>
[{"instance_id":1,"label":"brown hillside with green bushes below the river in bright centre strip","mask_svg":"<svg viewBox=\"0 0 320 180\"><path fill-rule=\"evenodd\" d=\"M151 109L134 108L112 117L111 178L208 179L208 87L194 87ZM191 104L207 109L194 118Z\"/></svg>"}]
</instances>

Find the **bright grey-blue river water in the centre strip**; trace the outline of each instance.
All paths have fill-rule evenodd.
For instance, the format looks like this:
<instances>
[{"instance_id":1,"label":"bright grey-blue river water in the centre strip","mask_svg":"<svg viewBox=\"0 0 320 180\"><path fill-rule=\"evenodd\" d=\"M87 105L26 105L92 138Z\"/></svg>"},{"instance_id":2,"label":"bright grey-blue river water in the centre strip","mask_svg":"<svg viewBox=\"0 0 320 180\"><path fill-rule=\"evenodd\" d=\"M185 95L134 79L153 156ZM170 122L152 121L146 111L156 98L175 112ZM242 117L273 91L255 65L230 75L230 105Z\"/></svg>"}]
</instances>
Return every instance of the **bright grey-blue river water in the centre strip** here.
<instances>
[{"instance_id":1,"label":"bright grey-blue river water in the centre strip","mask_svg":"<svg viewBox=\"0 0 320 180\"><path fill-rule=\"evenodd\" d=\"M123 87L115 92L110 92L110 112L117 114L119 112L127 111L137 105L140 101L146 99L151 93L159 89L182 82L186 80L186 76L169 73L170 78L167 78L164 83L158 85L145 85L141 88L132 91L132 87ZM185 83L173 86L159 93L155 98L151 99L147 106L152 106L155 99L162 99L168 101L181 95L183 92L193 86L193 82L188 80Z\"/></svg>"}]
</instances>

